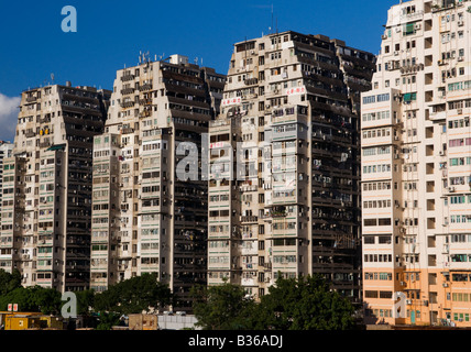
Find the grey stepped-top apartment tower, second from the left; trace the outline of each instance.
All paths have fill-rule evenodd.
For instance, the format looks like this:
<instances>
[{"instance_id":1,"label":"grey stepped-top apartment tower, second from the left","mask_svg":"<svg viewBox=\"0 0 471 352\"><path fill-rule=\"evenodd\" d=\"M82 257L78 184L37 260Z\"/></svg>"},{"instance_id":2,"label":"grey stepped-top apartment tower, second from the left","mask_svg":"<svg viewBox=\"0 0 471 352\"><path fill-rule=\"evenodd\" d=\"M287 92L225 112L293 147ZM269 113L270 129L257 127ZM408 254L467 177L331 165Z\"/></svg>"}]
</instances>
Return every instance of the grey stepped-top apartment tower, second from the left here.
<instances>
[{"instance_id":1,"label":"grey stepped-top apartment tower, second from the left","mask_svg":"<svg viewBox=\"0 0 471 352\"><path fill-rule=\"evenodd\" d=\"M207 282L201 141L224 79L182 55L118 70L94 143L91 288L157 273L180 300L174 309L190 309L189 289Z\"/></svg>"}]
</instances>

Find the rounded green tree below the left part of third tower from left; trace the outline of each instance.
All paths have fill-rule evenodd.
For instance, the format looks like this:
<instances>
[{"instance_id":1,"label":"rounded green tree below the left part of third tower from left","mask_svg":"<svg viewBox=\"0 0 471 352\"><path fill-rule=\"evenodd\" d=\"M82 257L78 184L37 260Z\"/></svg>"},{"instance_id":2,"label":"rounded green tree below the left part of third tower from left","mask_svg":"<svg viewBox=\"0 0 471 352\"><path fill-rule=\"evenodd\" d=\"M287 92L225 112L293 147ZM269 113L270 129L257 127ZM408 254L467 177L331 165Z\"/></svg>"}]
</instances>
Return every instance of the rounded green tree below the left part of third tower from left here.
<instances>
[{"instance_id":1,"label":"rounded green tree below the left part of third tower from left","mask_svg":"<svg viewBox=\"0 0 471 352\"><path fill-rule=\"evenodd\" d=\"M218 286L194 286L194 312L204 330L245 330L251 328L254 301L241 286L223 283Z\"/></svg>"}]
</instances>

